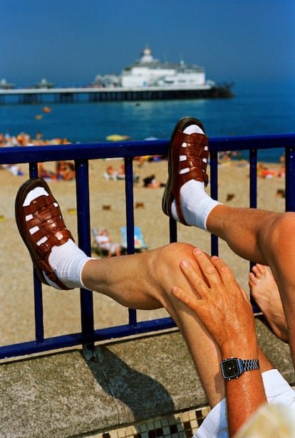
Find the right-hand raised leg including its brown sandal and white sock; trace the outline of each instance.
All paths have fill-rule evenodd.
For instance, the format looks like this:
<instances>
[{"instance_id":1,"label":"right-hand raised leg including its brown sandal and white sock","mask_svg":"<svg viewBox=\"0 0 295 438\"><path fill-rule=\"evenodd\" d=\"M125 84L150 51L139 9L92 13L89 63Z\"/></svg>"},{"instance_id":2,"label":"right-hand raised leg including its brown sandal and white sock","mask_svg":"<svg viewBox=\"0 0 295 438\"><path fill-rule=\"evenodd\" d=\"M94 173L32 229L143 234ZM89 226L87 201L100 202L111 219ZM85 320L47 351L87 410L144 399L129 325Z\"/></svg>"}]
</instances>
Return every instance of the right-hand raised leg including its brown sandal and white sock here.
<instances>
[{"instance_id":1,"label":"right-hand raised leg including its brown sandal and white sock","mask_svg":"<svg viewBox=\"0 0 295 438\"><path fill-rule=\"evenodd\" d=\"M295 213L219 204L205 192L207 137L199 120L183 118L172 132L168 179L162 198L167 216L215 234L239 256L271 268L281 294L295 365Z\"/></svg>"}]
</instances>

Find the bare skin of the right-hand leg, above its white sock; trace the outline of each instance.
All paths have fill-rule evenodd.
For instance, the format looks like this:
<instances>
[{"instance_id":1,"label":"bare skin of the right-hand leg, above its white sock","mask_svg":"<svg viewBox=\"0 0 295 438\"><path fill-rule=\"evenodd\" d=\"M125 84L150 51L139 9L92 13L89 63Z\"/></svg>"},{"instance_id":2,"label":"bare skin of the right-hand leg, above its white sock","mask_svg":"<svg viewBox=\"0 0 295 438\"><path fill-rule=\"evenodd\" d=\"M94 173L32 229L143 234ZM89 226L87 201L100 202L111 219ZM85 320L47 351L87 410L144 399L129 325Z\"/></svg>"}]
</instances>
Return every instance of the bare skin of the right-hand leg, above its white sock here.
<instances>
[{"instance_id":1,"label":"bare skin of the right-hand leg, above its white sock","mask_svg":"<svg viewBox=\"0 0 295 438\"><path fill-rule=\"evenodd\" d=\"M217 205L208 231L221 237L244 259L268 265L279 287L295 365L295 213L272 213Z\"/></svg>"}]
</instances>

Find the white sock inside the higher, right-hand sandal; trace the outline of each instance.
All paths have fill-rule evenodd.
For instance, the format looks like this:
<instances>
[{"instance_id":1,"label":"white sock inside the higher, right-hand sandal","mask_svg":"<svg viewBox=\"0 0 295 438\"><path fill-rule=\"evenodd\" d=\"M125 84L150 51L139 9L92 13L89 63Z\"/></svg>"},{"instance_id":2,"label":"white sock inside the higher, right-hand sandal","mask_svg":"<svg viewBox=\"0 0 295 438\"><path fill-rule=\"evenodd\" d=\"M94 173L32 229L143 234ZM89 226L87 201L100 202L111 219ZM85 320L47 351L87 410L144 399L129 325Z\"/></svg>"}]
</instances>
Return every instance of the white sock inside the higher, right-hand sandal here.
<instances>
[{"instance_id":1,"label":"white sock inside the higher, right-hand sandal","mask_svg":"<svg viewBox=\"0 0 295 438\"><path fill-rule=\"evenodd\" d=\"M183 131L185 134L192 134L194 132L204 134L205 132L197 125L190 125L185 128ZM186 143L183 143L182 146L186 147ZM180 160L182 160L182 156L180 156ZM187 170L183 170L185 173ZM205 192L205 184L202 181L196 181L195 179L191 179L190 181L183 184L180 189L180 197L182 204L182 213L185 217L185 221L189 225L197 226L198 228L204 229L206 228L206 221L209 213L216 207L220 202L215 201ZM177 208L175 201L172 202L171 206L172 217L175 220L179 221L179 217L177 215Z\"/></svg>"}]
</instances>

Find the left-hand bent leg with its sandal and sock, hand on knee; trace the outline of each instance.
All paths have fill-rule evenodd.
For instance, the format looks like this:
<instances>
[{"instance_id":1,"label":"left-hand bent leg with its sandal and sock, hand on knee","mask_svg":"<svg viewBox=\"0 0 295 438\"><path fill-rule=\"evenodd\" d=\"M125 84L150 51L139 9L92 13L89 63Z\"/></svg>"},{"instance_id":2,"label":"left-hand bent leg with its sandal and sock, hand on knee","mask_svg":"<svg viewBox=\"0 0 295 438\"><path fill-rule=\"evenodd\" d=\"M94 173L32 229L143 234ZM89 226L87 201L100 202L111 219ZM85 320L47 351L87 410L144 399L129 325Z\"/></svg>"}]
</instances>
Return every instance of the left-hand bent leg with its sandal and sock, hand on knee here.
<instances>
[{"instance_id":1,"label":"left-hand bent leg with its sandal and sock, hand on knee","mask_svg":"<svg viewBox=\"0 0 295 438\"><path fill-rule=\"evenodd\" d=\"M74 244L56 199L41 179L20 187L16 223L43 283L62 289L84 286L130 308L166 308L190 348L209 404L224 397L219 349L195 313L172 293L175 285L195 290L180 268L183 259L195 266L193 246L170 244L143 254L89 259ZM200 268L197 272L201 276ZM262 353L259 360L262 372L271 368Z\"/></svg>"}]
</instances>

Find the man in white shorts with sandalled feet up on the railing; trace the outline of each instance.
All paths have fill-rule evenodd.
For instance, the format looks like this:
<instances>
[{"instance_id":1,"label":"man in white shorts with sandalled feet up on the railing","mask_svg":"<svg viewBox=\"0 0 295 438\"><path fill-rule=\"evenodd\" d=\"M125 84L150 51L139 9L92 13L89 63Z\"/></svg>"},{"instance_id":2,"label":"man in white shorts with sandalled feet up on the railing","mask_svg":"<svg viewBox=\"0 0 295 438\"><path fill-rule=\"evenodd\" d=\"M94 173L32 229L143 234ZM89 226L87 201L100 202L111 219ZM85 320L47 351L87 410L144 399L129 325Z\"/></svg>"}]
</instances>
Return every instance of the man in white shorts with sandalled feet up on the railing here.
<instances>
[{"instance_id":1,"label":"man in white shorts with sandalled feet up on the railing","mask_svg":"<svg viewBox=\"0 0 295 438\"><path fill-rule=\"evenodd\" d=\"M288 271L286 258L283 265L281 254L284 246L291 259L290 236L286 239L284 235L290 232L289 226L284 227L286 222L290 225L289 214L225 207L214 201L204 187L207 157L202 124L195 118L180 120L170 141L169 178L162 201L165 214L220 234L238 254L271 266L276 282L279 284L279 278L284 286L284 278L291 279L293 273L292 268ZM97 291L129 308L167 309L190 348L212 407L195 437L232 437L267 400L283 404L294 416L294 390L257 345L252 306L222 259L185 243L130 256L92 259L74 243L58 202L42 179L31 179L20 187L16 223L43 283ZM281 298L294 353L293 308L289 313L285 308L286 303L292 303L289 287ZM279 438L277 431L274 429Z\"/></svg>"}]
</instances>

